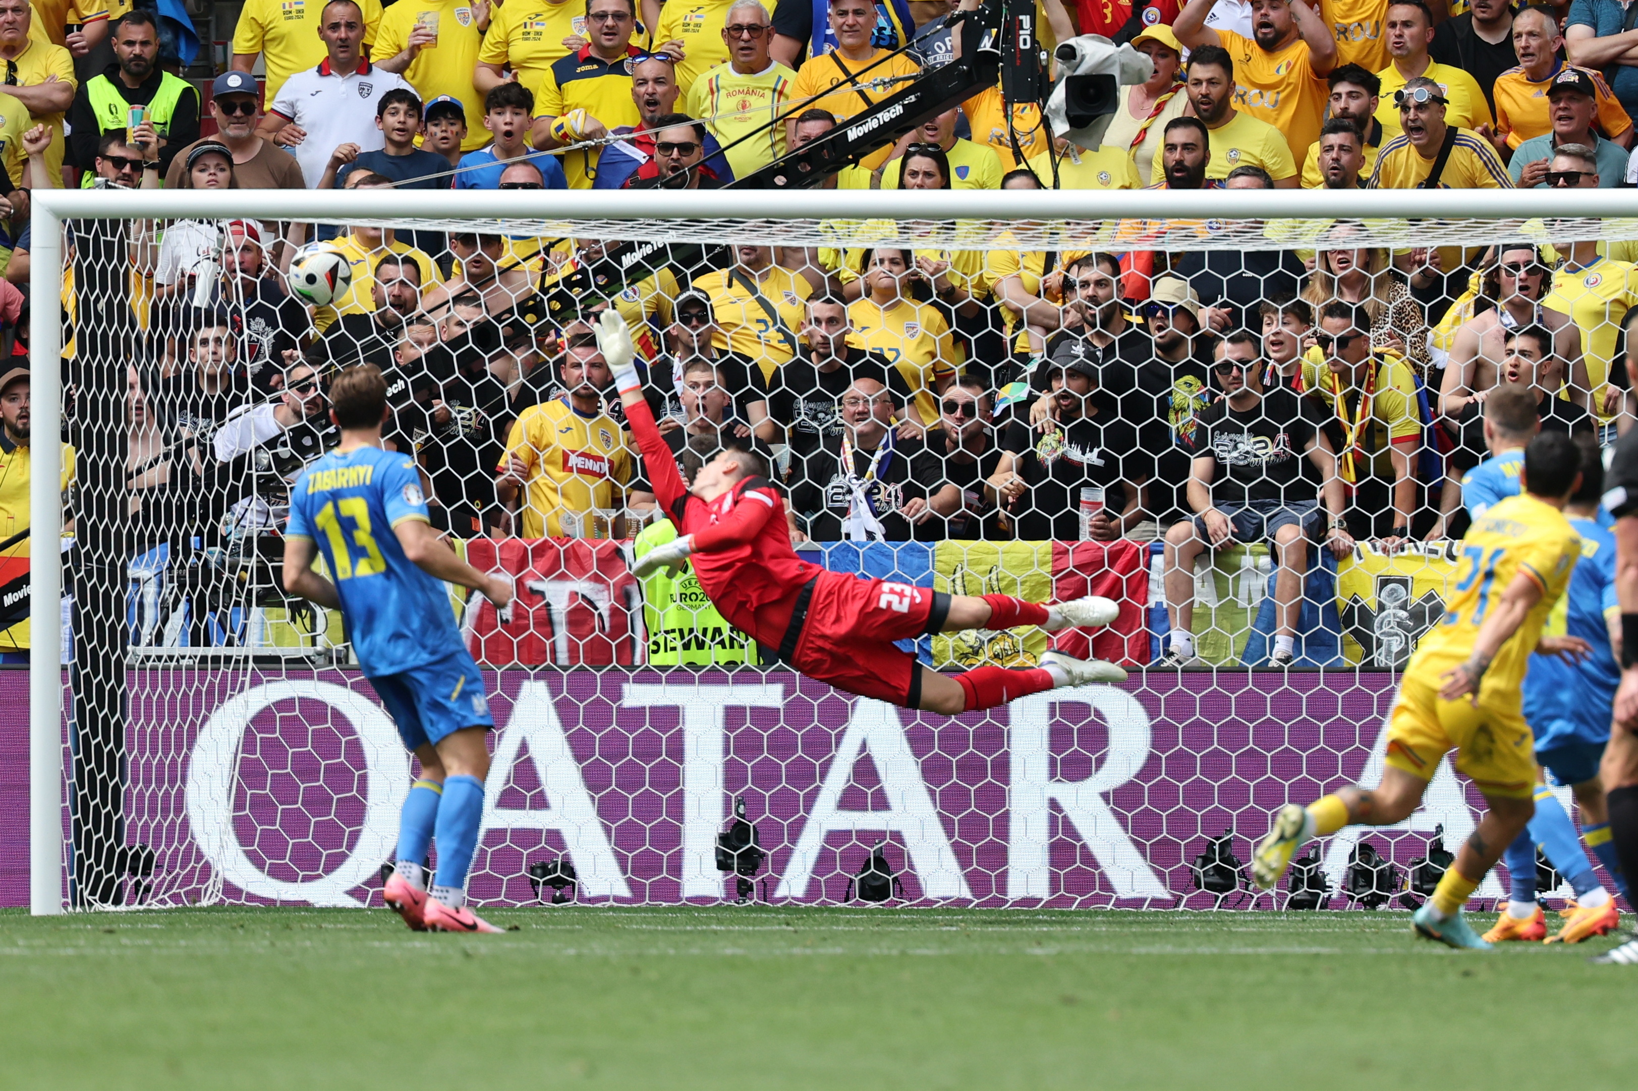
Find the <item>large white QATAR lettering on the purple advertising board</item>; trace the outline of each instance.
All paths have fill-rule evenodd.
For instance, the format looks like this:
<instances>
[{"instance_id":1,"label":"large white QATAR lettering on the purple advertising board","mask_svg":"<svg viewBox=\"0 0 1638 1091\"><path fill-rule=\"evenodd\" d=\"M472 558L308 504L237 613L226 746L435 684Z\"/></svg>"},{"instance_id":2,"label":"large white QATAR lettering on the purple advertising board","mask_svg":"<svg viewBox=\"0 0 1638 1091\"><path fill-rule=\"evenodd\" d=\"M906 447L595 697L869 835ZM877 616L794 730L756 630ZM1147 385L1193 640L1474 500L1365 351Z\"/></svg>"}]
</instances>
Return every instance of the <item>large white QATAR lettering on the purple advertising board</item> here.
<instances>
[{"instance_id":1,"label":"large white QATAR lettering on the purple advertising board","mask_svg":"<svg viewBox=\"0 0 1638 1091\"><path fill-rule=\"evenodd\" d=\"M665 870L681 878L681 898L721 898L716 835L727 817L729 724L744 722L745 709L785 709L790 704L786 688L762 678L724 683L690 678L627 681L619 685L618 695L619 708L676 711L683 737L678 749L681 768L680 783L670 791L681 798L675 806L667 801L665 813L681 816L675 850L680 858L667 863ZM246 850L234 821L241 794L238 765L246 734L264 711L293 701L323 701L336 713L333 722L352 726L357 754L364 758L360 780L365 786L364 816L347 858L328 875L303 876L300 881L269 875ZM1107 729L1101 762L1079 780L1060 780L1053 773L1052 722L1057 706L1063 703L1091 706ZM1050 852L1055 837L1075 837L1096 858L1117 898L1170 898L1161 876L1107 799L1109 793L1133 780L1152 757L1152 724L1142 703L1114 686L1079 686L1024 698L1012 703L1007 713L1006 896L1053 896ZM568 722L577 721L570 718ZM830 734L829 727L821 731ZM799 901L819 896L816 871L826 840L834 840L834 834L852 835L857 829L870 829L894 835L904 847L925 898L971 899L968 876L947 829L950 816L934 803L935 793L922 775L898 709L881 701L855 701L847 722L832 737L830 762L811 796L812 803L790 826L794 842L770 845L780 860L775 898ZM855 811L844 806L844 794L853 783L857 765L867 758L875 765L886 806ZM521 762L532 763L529 773L542 786L547 808L501 806L501 791L518 776ZM395 852L398 814L410 783L410 755L391 719L365 693L318 680L272 681L229 698L201 727L188 762L188 826L216 878L246 894L314 906L360 906L364 903L355 891ZM806 786L803 794L808 796ZM616 806L624 808L627 801ZM1055 827L1061 832L1055 834ZM629 899L631 880L640 878L627 875L619 863L611 826L600 816L598 799L586 788L545 681L523 683L505 729L496 736L482 831L480 844L483 834L491 831L555 834L568 849L581 893L591 899Z\"/></svg>"}]
</instances>

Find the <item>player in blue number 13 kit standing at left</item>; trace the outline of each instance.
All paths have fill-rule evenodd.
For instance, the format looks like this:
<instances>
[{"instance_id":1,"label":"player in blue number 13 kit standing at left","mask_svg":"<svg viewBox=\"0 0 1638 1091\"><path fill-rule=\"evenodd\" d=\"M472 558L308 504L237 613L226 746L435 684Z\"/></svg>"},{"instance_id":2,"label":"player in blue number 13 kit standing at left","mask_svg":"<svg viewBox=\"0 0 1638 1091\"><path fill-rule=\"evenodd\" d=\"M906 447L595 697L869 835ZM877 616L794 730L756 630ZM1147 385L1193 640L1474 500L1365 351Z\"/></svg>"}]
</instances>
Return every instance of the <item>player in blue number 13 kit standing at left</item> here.
<instances>
[{"instance_id":1,"label":"player in blue number 13 kit standing at left","mask_svg":"<svg viewBox=\"0 0 1638 1091\"><path fill-rule=\"evenodd\" d=\"M500 932L465 904L490 772L485 736L495 721L444 582L482 591L496 606L511 601L513 585L444 544L428 521L414 459L382 449L380 369L346 369L329 398L341 446L290 490L285 590L341 609L364 677L421 762L400 819L387 904L416 930ZM319 554L333 580L313 570ZM428 891L423 865L434 837L437 873Z\"/></svg>"}]
</instances>

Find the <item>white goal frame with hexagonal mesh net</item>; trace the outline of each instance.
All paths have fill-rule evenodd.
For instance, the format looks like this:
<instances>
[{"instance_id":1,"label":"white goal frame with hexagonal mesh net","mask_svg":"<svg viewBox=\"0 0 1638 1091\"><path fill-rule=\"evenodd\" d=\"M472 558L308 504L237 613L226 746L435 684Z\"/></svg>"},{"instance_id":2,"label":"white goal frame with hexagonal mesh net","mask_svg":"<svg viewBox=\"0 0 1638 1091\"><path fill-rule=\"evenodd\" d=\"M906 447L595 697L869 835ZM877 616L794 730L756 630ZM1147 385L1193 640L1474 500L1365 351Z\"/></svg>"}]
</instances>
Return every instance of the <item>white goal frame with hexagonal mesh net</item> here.
<instances>
[{"instance_id":1,"label":"white goal frame with hexagonal mesh net","mask_svg":"<svg viewBox=\"0 0 1638 1091\"><path fill-rule=\"evenodd\" d=\"M33 708L36 912L382 904L411 760L342 619L282 573L360 362L437 529L518 586L501 613L450 590L498 724L485 904L1410 904L1482 806L1448 765L1271 896L1240 863L1281 803L1381 775L1396 672L1473 575L1469 509L1515 487L1517 455L1463 485L1497 429L1523 406L1607 446L1631 419L1638 216L1609 192L1554 200L1577 218L1466 192L36 200L31 534L5 562L33 660L0 672ZM749 437L806 559L1120 603L921 662L1058 647L1129 681L909 713L799 678L686 572L634 578L673 531L596 352L608 306L685 475Z\"/></svg>"}]
</instances>

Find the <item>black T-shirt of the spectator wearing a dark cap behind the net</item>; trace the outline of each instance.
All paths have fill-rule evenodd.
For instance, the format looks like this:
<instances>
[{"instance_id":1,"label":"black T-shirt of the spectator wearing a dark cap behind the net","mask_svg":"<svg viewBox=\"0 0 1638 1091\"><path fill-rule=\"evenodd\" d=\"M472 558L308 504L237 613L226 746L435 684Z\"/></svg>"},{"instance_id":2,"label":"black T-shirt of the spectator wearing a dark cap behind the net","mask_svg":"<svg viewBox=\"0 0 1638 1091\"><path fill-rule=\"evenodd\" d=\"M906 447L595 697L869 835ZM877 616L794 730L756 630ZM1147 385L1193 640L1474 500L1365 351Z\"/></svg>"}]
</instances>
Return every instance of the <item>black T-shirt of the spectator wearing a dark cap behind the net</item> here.
<instances>
[{"instance_id":1,"label":"black T-shirt of the spectator wearing a dark cap behind the net","mask_svg":"<svg viewBox=\"0 0 1638 1091\"><path fill-rule=\"evenodd\" d=\"M1138 429L1107 403L1048 432L1012 424L1001 446L1029 485L1009 508L1012 537L1024 541L1078 539L1081 490L1104 488L1104 508L1117 513L1125 506L1120 482L1140 478L1152 462L1138 454Z\"/></svg>"}]
</instances>

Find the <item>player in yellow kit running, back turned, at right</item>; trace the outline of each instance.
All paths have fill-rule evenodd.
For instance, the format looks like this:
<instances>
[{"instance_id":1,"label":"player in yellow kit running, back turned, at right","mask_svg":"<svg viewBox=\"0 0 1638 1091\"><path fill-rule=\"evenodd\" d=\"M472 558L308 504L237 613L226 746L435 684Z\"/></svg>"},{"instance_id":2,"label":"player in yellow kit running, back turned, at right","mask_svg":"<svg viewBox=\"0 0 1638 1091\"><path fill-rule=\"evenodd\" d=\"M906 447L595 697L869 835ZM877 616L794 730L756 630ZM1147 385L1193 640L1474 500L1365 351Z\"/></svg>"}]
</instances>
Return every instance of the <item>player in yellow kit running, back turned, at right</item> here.
<instances>
[{"instance_id":1,"label":"player in yellow kit running, back turned, at right","mask_svg":"<svg viewBox=\"0 0 1638 1091\"><path fill-rule=\"evenodd\" d=\"M1433 896L1417 909L1415 932L1450 947L1489 950L1461 906L1535 813L1535 740L1520 683L1530 652L1586 652L1581 637L1543 637L1553 604L1581 555L1564 503L1581 485L1581 449L1563 432L1525 449L1523 491L1474 519L1445 616L1417 644L1387 721L1387 758L1376 788L1350 786L1307 809L1287 803L1256 847L1251 875L1269 890L1310 839L1343 826L1392 826L1410 817L1448 750L1456 770L1489 804Z\"/></svg>"}]
</instances>

